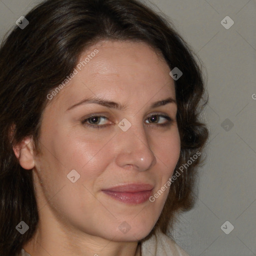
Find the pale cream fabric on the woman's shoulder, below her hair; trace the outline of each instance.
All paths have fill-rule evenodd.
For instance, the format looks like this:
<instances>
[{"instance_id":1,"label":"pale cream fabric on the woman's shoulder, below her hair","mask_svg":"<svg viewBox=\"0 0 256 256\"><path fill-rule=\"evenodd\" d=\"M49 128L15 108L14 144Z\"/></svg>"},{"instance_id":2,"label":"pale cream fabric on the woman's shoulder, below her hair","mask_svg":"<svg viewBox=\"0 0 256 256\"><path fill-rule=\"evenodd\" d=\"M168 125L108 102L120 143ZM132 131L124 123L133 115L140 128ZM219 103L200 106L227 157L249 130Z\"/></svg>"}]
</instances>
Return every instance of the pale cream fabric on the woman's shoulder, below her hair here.
<instances>
[{"instance_id":1,"label":"pale cream fabric on the woman's shoulder, below her hair","mask_svg":"<svg viewBox=\"0 0 256 256\"><path fill-rule=\"evenodd\" d=\"M161 231L155 232L149 239L141 242L141 254L142 256L189 256L175 241Z\"/></svg>"}]
</instances>

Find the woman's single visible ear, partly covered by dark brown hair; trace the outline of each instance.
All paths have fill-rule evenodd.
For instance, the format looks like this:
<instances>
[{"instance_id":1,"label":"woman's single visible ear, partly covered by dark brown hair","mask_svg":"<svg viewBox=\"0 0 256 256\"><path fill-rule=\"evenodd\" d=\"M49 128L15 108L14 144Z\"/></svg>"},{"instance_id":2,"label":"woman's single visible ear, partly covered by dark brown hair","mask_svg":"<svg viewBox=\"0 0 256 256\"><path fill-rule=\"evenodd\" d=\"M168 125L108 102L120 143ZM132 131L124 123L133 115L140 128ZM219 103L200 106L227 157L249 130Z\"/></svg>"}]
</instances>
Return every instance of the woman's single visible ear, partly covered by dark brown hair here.
<instances>
[{"instance_id":1,"label":"woman's single visible ear, partly covered by dark brown hair","mask_svg":"<svg viewBox=\"0 0 256 256\"><path fill-rule=\"evenodd\" d=\"M14 145L12 148L16 157L19 158L19 164L21 167L27 170L30 170L34 167L32 138L26 137L19 144Z\"/></svg>"}]
</instances>

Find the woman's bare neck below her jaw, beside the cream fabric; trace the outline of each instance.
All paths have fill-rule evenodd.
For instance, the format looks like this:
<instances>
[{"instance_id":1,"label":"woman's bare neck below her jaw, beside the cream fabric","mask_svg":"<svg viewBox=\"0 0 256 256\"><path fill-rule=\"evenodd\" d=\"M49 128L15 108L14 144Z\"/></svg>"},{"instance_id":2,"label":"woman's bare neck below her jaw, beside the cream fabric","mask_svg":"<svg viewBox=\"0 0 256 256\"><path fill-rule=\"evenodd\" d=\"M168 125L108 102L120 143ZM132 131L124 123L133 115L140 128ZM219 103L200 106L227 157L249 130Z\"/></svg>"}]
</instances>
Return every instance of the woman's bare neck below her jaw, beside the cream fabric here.
<instances>
[{"instance_id":1,"label":"woman's bare neck below her jaw, beside the cream fabric","mask_svg":"<svg viewBox=\"0 0 256 256\"><path fill-rule=\"evenodd\" d=\"M47 232L43 228L40 229L40 224L35 235L24 244L23 249L36 256L141 256L141 244L137 241L109 241L87 234L81 239L80 236L73 234Z\"/></svg>"}]
</instances>

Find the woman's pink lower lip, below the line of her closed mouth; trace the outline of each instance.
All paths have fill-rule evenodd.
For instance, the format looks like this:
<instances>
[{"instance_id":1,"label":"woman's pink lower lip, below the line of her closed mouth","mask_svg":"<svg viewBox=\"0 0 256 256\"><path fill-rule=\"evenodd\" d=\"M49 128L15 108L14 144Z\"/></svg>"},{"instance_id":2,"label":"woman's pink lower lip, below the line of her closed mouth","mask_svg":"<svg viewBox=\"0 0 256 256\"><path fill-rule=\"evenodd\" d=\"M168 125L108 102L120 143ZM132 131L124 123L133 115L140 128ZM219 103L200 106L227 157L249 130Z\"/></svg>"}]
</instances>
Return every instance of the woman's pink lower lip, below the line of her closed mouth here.
<instances>
[{"instance_id":1,"label":"woman's pink lower lip, below the line of her closed mouth","mask_svg":"<svg viewBox=\"0 0 256 256\"><path fill-rule=\"evenodd\" d=\"M107 190L102 190L105 194L111 196L112 198L122 201L125 203L130 203L130 204L138 204L145 202L148 200L151 190L147 191L140 191L140 192L116 192L116 191L107 191Z\"/></svg>"}]
</instances>

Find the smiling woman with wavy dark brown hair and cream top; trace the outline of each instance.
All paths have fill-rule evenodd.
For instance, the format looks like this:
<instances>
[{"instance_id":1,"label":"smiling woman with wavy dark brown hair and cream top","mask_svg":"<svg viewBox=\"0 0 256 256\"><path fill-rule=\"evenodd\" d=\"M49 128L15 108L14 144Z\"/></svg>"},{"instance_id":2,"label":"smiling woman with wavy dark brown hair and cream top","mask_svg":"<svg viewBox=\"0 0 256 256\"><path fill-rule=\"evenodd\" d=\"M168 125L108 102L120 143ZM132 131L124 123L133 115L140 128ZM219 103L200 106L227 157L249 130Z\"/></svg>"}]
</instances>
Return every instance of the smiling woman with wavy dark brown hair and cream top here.
<instances>
[{"instance_id":1,"label":"smiling woman with wavy dark brown hair and cream top","mask_svg":"<svg viewBox=\"0 0 256 256\"><path fill-rule=\"evenodd\" d=\"M135 0L48 0L0 48L0 255L187 255L200 68Z\"/></svg>"}]
</instances>

